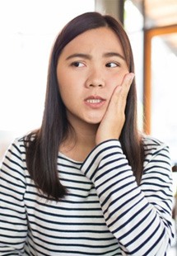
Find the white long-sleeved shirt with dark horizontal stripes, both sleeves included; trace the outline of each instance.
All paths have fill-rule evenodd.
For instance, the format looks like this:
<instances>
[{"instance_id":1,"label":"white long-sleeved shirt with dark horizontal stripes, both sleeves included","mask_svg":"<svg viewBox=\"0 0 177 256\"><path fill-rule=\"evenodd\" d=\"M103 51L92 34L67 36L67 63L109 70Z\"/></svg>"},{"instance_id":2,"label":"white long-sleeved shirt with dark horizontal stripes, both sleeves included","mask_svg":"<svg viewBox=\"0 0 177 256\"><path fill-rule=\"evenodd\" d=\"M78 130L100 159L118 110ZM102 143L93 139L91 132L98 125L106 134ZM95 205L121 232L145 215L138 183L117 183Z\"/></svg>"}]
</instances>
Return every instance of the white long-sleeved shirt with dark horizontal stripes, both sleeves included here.
<instances>
[{"instance_id":1,"label":"white long-sleeved shirt with dark horizontal stripes, both sleeves included","mask_svg":"<svg viewBox=\"0 0 177 256\"><path fill-rule=\"evenodd\" d=\"M0 171L0 255L166 255L173 239L169 150L151 137L144 147L140 186L119 140L97 145L83 163L59 153L68 194L57 202L36 189L24 141L15 140Z\"/></svg>"}]
</instances>

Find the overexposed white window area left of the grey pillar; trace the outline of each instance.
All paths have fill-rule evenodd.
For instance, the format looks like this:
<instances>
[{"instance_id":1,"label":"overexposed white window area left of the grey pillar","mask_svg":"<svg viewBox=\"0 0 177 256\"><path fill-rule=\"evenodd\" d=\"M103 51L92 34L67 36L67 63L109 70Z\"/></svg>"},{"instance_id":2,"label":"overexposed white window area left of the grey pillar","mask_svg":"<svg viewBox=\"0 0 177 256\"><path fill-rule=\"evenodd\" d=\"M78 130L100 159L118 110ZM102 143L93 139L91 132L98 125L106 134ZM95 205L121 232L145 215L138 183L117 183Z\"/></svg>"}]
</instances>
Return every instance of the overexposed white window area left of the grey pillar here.
<instances>
[{"instance_id":1,"label":"overexposed white window area left of the grey pillar","mask_svg":"<svg viewBox=\"0 0 177 256\"><path fill-rule=\"evenodd\" d=\"M0 1L0 157L14 136L40 126L58 32L72 17L94 10L94 0Z\"/></svg>"}]
</instances>

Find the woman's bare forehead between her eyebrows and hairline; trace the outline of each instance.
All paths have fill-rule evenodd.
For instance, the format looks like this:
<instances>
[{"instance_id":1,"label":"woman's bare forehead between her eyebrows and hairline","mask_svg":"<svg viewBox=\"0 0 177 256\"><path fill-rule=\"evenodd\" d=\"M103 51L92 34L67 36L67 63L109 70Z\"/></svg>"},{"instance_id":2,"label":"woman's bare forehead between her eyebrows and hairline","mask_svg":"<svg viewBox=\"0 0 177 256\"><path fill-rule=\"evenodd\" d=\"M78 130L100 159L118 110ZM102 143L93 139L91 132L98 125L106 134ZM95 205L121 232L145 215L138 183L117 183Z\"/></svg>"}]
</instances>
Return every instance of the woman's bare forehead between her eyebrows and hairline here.
<instances>
[{"instance_id":1,"label":"woman's bare forehead between her eyebrows and hairline","mask_svg":"<svg viewBox=\"0 0 177 256\"><path fill-rule=\"evenodd\" d=\"M119 36L108 27L100 27L83 32L71 40L63 49L63 54L79 51L88 54L95 52L118 51L123 55L123 46Z\"/></svg>"}]
</instances>

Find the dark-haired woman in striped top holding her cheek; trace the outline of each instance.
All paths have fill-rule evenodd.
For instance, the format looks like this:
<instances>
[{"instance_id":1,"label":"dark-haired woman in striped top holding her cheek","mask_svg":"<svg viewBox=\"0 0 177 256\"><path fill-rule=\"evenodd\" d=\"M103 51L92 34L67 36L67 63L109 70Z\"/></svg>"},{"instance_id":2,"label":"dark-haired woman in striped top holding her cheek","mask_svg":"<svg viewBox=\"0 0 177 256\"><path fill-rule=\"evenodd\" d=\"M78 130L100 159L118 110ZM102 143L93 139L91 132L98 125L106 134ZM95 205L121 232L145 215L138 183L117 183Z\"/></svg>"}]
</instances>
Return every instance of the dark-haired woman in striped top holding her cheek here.
<instances>
[{"instance_id":1,"label":"dark-haired woman in striped top holding her cheek","mask_svg":"<svg viewBox=\"0 0 177 256\"><path fill-rule=\"evenodd\" d=\"M137 130L133 54L113 17L84 13L49 61L39 130L1 168L1 255L165 255L168 147Z\"/></svg>"}]
</instances>

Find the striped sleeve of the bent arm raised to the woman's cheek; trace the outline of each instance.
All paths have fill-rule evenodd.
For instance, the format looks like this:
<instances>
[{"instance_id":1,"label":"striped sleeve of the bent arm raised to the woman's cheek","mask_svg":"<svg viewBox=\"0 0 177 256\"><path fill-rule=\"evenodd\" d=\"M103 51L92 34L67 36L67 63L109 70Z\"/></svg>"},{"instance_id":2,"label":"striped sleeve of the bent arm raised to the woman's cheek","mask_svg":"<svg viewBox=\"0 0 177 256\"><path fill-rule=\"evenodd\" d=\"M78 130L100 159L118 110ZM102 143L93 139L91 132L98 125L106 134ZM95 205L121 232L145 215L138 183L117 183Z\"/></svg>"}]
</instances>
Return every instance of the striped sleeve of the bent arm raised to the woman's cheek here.
<instances>
[{"instance_id":1,"label":"striped sleeve of the bent arm raised to the woman's cheek","mask_svg":"<svg viewBox=\"0 0 177 256\"><path fill-rule=\"evenodd\" d=\"M119 140L98 145L82 165L95 185L106 225L123 255L165 255L171 229L172 178L165 145L147 145L142 183L137 186Z\"/></svg>"}]
</instances>

